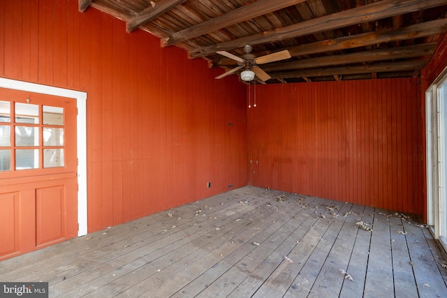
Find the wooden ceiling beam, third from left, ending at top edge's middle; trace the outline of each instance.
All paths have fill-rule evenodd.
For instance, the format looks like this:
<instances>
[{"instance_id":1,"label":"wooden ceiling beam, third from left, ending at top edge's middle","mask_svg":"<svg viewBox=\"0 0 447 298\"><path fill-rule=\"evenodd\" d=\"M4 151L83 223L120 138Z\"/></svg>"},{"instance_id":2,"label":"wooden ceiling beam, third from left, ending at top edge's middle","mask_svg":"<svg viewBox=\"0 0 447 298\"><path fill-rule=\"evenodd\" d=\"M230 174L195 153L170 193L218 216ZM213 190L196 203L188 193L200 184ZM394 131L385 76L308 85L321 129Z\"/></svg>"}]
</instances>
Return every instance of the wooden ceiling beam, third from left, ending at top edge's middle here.
<instances>
[{"instance_id":1,"label":"wooden ceiling beam, third from left, ending at top edge's middle","mask_svg":"<svg viewBox=\"0 0 447 298\"><path fill-rule=\"evenodd\" d=\"M235 10L226 13L225 15L219 15L209 21L196 24L195 26L186 28L182 31L175 32L166 38L161 38L161 46L167 47L168 45L174 45L175 43L181 43L184 40L188 40L197 36L201 36L212 31L244 22L266 13L293 6L306 0L258 0L247 5L241 6Z\"/></svg>"}]
</instances>

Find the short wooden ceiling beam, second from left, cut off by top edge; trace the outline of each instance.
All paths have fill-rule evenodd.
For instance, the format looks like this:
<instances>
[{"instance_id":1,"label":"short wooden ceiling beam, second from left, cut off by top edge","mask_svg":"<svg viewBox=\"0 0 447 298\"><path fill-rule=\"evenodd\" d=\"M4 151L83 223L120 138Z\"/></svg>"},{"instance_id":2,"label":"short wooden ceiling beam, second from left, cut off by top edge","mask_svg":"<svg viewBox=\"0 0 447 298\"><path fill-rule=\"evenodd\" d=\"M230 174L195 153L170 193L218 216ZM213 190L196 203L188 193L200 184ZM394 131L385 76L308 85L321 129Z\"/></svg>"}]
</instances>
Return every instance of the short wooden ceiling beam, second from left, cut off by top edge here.
<instances>
[{"instance_id":1,"label":"short wooden ceiling beam, second from left, cut off by top edge","mask_svg":"<svg viewBox=\"0 0 447 298\"><path fill-rule=\"evenodd\" d=\"M152 2L154 3L152 4L152 6L145 8L145 10L142 10L140 13L138 13L138 15L131 18L131 20L126 23L126 31L132 32L141 25L154 20L154 18L162 15L163 13L166 13L171 8L182 4L184 1L186 0L163 0Z\"/></svg>"}]
</instances>

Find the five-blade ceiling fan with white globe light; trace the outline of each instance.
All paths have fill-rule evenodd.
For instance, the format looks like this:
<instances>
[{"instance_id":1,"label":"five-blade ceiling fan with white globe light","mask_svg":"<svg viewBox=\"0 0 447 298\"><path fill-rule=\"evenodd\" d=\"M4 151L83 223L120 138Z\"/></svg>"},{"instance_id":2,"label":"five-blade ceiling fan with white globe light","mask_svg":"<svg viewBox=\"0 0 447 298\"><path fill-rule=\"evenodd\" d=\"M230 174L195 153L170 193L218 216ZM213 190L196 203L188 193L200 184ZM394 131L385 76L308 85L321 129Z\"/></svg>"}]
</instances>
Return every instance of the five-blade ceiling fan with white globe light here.
<instances>
[{"instance_id":1,"label":"five-blade ceiling fan with white globe light","mask_svg":"<svg viewBox=\"0 0 447 298\"><path fill-rule=\"evenodd\" d=\"M253 48L250 45L245 45L244 46L245 54L243 54L242 57L233 55L226 51L218 51L217 54L221 54L222 56L237 61L238 66L228 70L226 73L217 76L216 79L221 79L222 77L231 75L237 72L237 70L244 68L244 70L240 73L240 77L243 81L249 82L251 80L254 80L254 75L256 75L256 77L258 77L259 80L265 82L270 79L270 75L268 75L268 73L265 73L265 71L262 70L258 66L258 64L266 64L274 61L291 58L291 54L288 52L288 50L267 54L261 57L256 57L254 54L251 54L252 50Z\"/></svg>"}]
</instances>

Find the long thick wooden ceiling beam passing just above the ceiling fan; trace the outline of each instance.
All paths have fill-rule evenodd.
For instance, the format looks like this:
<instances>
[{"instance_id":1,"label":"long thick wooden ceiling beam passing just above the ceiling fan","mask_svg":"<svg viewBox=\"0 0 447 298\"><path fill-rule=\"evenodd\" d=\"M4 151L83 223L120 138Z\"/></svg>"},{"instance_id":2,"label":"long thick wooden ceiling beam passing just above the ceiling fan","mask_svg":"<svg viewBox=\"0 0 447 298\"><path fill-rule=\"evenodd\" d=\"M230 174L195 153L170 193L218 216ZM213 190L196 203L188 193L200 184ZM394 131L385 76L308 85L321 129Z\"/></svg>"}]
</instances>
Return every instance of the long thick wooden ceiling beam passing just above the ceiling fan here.
<instances>
[{"instance_id":1,"label":"long thick wooden ceiling beam passing just above the ceiling fan","mask_svg":"<svg viewBox=\"0 0 447 298\"><path fill-rule=\"evenodd\" d=\"M277 42L445 4L446 0L382 0L339 13L333 13L332 15L325 15L324 17L230 40L225 43L200 47L189 51L189 56L191 58L203 57L218 50L233 50L244 47L244 45Z\"/></svg>"}]
</instances>

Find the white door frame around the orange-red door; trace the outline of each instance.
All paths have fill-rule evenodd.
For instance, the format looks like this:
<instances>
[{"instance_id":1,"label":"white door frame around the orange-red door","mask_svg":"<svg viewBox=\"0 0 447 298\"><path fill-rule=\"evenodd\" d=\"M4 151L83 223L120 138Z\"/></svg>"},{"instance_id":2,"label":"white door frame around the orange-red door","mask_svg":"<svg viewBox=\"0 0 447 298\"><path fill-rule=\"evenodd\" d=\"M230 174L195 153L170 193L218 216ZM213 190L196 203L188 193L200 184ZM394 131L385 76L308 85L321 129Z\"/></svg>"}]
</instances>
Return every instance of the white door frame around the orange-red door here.
<instances>
[{"instance_id":1,"label":"white door frame around the orange-red door","mask_svg":"<svg viewBox=\"0 0 447 298\"><path fill-rule=\"evenodd\" d=\"M78 131L78 171L76 172L78 177L78 237L87 234L87 92L11 80L3 77L0 77L0 87L74 98L76 100L76 107L78 108L78 115L76 116L76 129Z\"/></svg>"}]
</instances>

